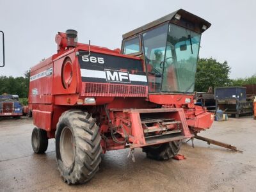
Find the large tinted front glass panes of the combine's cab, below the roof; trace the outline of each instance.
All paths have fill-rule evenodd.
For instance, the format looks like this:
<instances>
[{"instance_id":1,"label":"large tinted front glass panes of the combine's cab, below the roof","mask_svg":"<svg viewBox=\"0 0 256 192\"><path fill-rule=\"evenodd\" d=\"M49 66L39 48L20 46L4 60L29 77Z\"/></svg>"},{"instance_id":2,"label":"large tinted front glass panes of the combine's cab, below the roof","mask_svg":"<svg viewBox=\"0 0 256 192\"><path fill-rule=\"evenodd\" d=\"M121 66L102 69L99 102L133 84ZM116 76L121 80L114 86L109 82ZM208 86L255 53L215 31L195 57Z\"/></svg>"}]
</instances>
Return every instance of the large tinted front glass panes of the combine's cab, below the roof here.
<instances>
[{"instance_id":1,"label":"large tinted front glass panes of the combine's cab, below the roof","mask_svg":"<svg viewBox=\"0 0 256 192\"><path fill-rule=\"evenodd\" d=\"M149 91L192 93L201 35L163 24L142 37Z\"/></svg>"}]
</instances>

